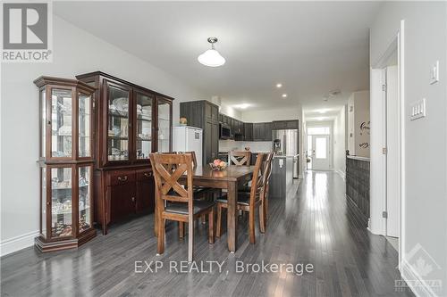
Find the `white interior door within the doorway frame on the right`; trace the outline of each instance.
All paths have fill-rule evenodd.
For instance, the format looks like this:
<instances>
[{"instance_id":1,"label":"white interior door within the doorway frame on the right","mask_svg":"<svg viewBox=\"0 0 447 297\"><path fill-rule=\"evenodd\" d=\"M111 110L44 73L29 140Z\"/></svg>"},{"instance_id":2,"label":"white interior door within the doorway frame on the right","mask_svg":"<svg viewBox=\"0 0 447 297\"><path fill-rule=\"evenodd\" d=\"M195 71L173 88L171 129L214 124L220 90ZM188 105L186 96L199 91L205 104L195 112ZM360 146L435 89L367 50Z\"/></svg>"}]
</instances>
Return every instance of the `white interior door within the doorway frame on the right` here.
<instances>
[{"instance_id":1,"label":"white interior door within the doorway frame on the right","mask_svg":"<svg viewBox=\"0 0 447 297\"><path fill-rule=\"evenodd\" d=\"M397 66L386 68L386 235L399 237L399 126Z\"/></svg>"}]
</instances>

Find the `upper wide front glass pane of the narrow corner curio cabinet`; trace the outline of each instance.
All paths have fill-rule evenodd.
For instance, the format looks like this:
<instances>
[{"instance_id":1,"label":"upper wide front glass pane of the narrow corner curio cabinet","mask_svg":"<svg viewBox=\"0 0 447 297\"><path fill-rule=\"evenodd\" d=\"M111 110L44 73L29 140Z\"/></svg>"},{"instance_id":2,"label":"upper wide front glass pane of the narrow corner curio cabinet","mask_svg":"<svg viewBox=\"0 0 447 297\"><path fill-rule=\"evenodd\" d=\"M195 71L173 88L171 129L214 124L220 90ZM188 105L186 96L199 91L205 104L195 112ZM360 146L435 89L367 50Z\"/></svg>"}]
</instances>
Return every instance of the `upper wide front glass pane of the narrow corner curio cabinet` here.
<instances>
[{"instance_id":1,"label":"upper wide front glass pane of the narrow corner curio cabinet","mask_svg":"<svg viewBox=\"0 0 447 297\"><path fill-rule=\"evenodd\" d=\"M72 157L71 89L51 89L51 156Z\"/></svg>"}]
</instances>

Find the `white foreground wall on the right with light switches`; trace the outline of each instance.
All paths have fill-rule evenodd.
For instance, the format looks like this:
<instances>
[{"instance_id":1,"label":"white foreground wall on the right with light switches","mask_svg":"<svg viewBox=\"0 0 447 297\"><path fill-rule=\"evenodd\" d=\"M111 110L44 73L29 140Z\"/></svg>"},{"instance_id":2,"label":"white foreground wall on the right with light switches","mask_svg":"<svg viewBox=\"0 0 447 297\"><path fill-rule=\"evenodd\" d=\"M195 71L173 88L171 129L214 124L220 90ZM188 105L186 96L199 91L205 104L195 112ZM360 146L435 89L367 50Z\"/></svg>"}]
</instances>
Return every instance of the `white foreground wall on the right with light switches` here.
<instances>
[{"instance_id":1,"label":"white foreground wall on the right with light switches","mask_svg":"<svg viewBox=\"0 0 447 297\"><path fill-rule=\"evenodd\" d=\"M404 197L401 204L403 257L419 243L440 266L421 279L440 279L447 295L447 4L384 3L371 28L370 62L375 65L393 37L404 29ZM429 84L439 60L441 80ZM409 104L426 98L426 118L409 120ZM412 277L404 269L403 276ZM424 294L420 289L417 293Z\"/></svg>"}]
</instances>

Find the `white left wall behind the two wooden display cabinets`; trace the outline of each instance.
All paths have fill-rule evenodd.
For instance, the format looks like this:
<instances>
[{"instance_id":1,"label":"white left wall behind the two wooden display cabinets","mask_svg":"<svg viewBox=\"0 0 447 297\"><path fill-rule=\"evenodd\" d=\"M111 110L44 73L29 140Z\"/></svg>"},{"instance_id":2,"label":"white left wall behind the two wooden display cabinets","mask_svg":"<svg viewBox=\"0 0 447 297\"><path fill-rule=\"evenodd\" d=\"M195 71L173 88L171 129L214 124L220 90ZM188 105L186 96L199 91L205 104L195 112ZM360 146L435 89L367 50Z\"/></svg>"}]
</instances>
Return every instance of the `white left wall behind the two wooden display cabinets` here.
<instances>
[{"instance_id":1,"label":"white left wall behind the two wooden display cabinets","mask_svg":"<svg viewBox=\"0 0 447 297\"><path fill-rule=\"evenodd\" d=\"M2 64L2 254L33 244L39 228L38 89L33 80L41 75L74 78L95 70L173 96L174 124L181 101L203 98L163 70L55 16L52 63Z\"/></svg>"}]
</instances>

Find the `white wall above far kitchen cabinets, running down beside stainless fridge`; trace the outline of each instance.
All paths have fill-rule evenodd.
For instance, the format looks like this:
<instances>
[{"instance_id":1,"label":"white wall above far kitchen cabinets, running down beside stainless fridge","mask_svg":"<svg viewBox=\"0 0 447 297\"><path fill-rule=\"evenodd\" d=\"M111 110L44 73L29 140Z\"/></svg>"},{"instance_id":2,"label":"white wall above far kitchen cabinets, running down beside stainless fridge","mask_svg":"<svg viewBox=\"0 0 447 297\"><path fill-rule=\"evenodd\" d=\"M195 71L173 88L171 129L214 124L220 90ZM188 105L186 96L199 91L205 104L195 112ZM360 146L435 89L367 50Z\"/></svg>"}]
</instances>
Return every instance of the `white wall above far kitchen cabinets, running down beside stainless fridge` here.
<instances>
[{"instance_id":1,"label":"white wall above far kitchen cabinets, running down beside stainless fridge","mask_svg":"<svg viewBox=\"0 0 447 297\"><path fill-rule=\"evenodd\" d=\"M242 111L242 120L245 122L265 122L272 120L299 120L299 178L303 177L306 169L303 133L303 109L301 104L288 109L276 109L267 111Z\"/></svg>"}]
</instances>

